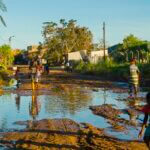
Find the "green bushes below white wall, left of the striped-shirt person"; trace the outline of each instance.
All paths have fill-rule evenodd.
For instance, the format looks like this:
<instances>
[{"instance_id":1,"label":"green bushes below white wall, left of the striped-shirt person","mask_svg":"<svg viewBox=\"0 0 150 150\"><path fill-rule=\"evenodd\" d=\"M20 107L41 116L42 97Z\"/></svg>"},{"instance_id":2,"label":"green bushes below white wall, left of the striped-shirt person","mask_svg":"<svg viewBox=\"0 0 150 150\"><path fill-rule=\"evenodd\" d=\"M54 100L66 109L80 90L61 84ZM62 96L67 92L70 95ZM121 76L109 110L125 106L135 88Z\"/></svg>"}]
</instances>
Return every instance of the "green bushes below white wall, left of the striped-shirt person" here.
<instances>
[{"instance_id":1,"label":"green bushes below white wall, left of the striped-shirt person","mask_svg":"<svg viewBox=\"0 0 150 150\"><path fill-rule=\"evenodd\" d=\"M80 61L74 66L74 70L111 80L127 80L129 76L129 64L117 64L111 59L101 60L96 64Z\"/></svg>"}]
</instances>

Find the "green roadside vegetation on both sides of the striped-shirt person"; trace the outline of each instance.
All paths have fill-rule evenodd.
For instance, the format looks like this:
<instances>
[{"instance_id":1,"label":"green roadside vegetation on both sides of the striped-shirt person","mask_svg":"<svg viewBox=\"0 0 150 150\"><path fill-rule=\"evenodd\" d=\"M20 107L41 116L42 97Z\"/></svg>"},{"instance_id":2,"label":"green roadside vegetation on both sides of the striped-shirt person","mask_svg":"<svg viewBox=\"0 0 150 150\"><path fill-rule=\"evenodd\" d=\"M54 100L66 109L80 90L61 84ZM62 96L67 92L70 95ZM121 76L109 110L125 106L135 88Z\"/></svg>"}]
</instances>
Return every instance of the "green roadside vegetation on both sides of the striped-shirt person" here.
<instances>
[{"instance_id":1,"label":"green roadside vegetation on both sides of the striped-shirt person","mask_svg":"<svg viewBox=\"0 0 150 150\"><path fill-rule=\"evenodd\" d=\"M138 64L141 72L141 84L149 85L150 63ZM77 73L99 76L101 79L113 81L128 81L129 63L116 63L112 60L101 60L98 63L76 62L73 70Z\"/></svg>"}]
</instances>

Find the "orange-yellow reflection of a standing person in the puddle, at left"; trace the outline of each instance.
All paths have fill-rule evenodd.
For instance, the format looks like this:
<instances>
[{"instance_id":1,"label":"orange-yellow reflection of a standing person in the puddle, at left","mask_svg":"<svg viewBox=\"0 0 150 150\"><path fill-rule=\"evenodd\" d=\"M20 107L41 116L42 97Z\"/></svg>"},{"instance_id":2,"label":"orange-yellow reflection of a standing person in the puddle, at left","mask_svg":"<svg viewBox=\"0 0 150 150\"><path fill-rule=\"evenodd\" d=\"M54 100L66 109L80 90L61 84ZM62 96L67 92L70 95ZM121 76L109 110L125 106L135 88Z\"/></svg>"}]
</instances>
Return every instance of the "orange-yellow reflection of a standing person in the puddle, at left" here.
<instances>
[{"instance_id":1,"label":"orange-yellow reflection of a standing person in the puddle, at left","mask_svg":"<svg viewBox=\"0 0 150 150\"><path fill-rule=\"evenodd\" d=\"M37 99L36 91L32 91L32 101L29 103L29 114L33 120L36 120L40 111L40 103Z\"/></svg>"}]
</instances>

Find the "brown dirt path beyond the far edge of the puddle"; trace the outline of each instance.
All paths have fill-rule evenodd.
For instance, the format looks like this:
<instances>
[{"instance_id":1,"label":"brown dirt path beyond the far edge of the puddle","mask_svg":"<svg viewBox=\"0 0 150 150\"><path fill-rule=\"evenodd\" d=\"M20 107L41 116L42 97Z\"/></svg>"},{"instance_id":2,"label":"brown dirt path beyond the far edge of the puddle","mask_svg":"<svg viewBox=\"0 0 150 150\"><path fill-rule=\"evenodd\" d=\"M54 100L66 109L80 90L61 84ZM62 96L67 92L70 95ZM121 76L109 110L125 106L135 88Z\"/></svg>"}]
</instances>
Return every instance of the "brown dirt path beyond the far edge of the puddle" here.
<instances>
[{"instance_id":1,"label":"brown dirt path beyond the far edge of the puddle","mask_svg":"<svg viewBox=\"0 0 150 150\"><path fill-rule=\"evenodd\" d=\"M21 85L19 90L32 89L29 72L27 66L20 67ZM49 75L43 74L39 82L39 89L51 89L59 85L80 85L91 88L108 88L118 92L127 91L127 89L120 88L111 81L102 80L101 77L68 73L63 69L50 70Z\"/></svg>"}]
</instances>

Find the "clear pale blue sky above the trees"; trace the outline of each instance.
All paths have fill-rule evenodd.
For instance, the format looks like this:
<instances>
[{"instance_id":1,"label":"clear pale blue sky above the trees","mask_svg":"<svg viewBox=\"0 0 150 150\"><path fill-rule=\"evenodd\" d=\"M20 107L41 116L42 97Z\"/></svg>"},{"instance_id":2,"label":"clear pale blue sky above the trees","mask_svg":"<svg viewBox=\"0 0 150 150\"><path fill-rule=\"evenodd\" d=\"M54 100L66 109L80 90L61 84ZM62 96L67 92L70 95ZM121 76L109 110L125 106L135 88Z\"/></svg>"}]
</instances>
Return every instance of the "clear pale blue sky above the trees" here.
<instances>
[{"instance_id":1,"label":"clear pale blue sky above the trees","mask_svg":"<svg viewBox=\"0 0 150 150\"><path fill-rule=\"evenodd\" d=\"M3 0L7 12L0 12L7 27L0 24L0 44L11 36L12 48L26 49L43 42L43 22L75 19L88 27L93 41L103 38L109 46L122 42L129 34L150 41L150 0Z\"/></svg>"}]
</instances>

